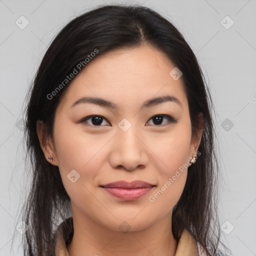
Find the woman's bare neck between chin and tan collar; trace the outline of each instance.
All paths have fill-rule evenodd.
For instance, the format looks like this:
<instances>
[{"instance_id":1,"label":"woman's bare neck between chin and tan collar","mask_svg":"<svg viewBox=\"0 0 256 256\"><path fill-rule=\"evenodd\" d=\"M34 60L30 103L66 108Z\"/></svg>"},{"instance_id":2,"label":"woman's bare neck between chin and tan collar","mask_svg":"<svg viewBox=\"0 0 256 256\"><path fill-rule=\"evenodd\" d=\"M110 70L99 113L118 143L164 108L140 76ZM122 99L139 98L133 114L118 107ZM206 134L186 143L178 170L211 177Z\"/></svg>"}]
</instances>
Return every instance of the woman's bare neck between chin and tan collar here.
<instances>
[{"instance_id":1,"label":"woman's bare neck between chin and tan collar","mask_svg":"<svg viewBox=\"0 0 256 256\"><path fill-rule=\"evenodd\" d=\"M73 212L73 227L73 238L67 246L69 256L174 256L177 248L171 232L171 214L143 230L122 232Z\"/></svg>"}]
</instances>

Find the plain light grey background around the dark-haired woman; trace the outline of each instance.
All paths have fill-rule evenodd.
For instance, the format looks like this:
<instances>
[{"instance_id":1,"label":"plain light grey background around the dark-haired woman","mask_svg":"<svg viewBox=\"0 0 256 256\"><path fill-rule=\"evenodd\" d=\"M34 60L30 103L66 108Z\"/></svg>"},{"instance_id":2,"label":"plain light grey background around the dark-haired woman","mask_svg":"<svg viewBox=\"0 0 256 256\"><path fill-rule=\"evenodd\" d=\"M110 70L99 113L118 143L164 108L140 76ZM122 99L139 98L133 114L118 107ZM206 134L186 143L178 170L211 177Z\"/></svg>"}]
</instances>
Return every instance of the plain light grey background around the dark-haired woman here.
<instances>
[{"instance_id":1,"label":"plain light grey background around the dark-haired woman","mask_svg":"<svg viewBox=\"0 0 256 256\"><path fill-rule=\"evenodd\" d=\"M223 241L235 256L256 255L256 0L126 2L143 3L169 19L196 53L212 92L221 140L219 218L221 224L229 221L222 226ZM22 234L15 234L11 252L10 245L24 198L22 122L16 123L22 118L28 84L56 32L102 3L0 0L0 255L22 255L17 247ZM15 24L21 15L29 21L24 29ZM234 21L228 29L223 26L231 24L226 15Z\"/></svg>"}]
</instances>

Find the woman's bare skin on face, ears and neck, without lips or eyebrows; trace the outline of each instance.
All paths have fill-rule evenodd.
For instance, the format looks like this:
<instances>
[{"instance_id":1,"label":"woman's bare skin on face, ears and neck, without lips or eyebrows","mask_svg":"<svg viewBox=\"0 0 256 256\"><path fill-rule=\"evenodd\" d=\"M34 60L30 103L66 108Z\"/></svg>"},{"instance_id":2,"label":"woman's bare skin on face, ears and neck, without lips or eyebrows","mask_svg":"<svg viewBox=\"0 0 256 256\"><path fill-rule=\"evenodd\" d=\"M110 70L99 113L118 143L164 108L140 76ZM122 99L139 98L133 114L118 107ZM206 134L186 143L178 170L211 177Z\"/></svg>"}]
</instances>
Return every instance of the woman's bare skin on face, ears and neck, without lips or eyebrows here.
<instances>
[{"instance_id":1,"label":"woman's bare skin on face, ears and neck, without lips or eyebrows","mask_svg":"<svg viewBox=\"0 0 256 256\"><path fill-rule=\"evenodd\" d=\"M108 52L95 58L73 78L57 106L53 141L42 143L43 124L37 121L37 134L44 155L59 167L63 185L71 199L74 235L68 245L76 255L174 255L177 241L171 232L171 210L183 191L187 169L149 201L168 178L196 155L201 133L191 138L191 123L182 76L174 80L174 65L161 51L149 46ZM167 101L140 109L147 99L172 95L182 106ZM100 97L115 103L111 109L81 103L82 96ZM156 114L168 114L176 123ZM88 115L101 115L99 125ZM131 127L123 131L118 123L126 118ZM153 122L154 121L154 122ZM95 122L94 122L95 123ZM111 125L109 125L111 124ZM75 169L80 177L67 178ZM122 201L99 185L117 180L142 180L156 185L134 201ZM123 221L128 232L120 231Z\"/></svg>"}]
</instances>

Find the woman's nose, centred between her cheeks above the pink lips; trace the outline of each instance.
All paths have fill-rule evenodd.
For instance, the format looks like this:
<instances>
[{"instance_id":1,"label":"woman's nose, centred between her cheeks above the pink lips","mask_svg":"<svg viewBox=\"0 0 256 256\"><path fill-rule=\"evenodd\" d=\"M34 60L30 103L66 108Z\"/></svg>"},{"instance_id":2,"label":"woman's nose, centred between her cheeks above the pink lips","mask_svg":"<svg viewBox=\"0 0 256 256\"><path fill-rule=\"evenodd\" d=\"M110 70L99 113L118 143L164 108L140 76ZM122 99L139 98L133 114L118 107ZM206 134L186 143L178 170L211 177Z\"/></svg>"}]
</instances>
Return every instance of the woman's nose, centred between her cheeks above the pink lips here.
<instances>
[{"instance_id":1,"label":"woman's nose, centred between her cheeks above the pink lips","mask_svg":"<svg viewBox=\"0 0 256 256\"><path fill-rule=\"evenodd\" d=\"M126 131L117 129L109 155L110 165L125 170L144 168L148 163L146 150L142 135L132 126Z\"/></svg>"}]
</instances>

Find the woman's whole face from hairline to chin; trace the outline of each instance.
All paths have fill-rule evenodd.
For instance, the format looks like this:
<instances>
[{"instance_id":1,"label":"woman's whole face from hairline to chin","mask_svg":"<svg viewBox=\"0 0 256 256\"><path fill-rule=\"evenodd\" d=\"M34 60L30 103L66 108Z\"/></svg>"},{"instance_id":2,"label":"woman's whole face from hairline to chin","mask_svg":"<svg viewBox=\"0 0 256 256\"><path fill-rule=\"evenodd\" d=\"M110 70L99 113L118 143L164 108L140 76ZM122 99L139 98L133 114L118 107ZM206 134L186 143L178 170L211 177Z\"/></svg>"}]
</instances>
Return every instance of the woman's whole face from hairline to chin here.
<instances>
[{"instance_id":1,"label":"woman's whole face from hairline to chin","mask_svg":"<svg viewBox=\"0 0 256 256\"><path fill-rule=\"evenodd\" d=\"M141 46L101 55L72 80L56 109L51 163L59 167L73 215L112 230L123 221L140 230L171 214L199 143L191 139L182 76L169 75L174 67L161 51ZM148 103L162 96L168 100ZM101 187L134 180L153 186Z\"/></svg>"}]
</instances>

